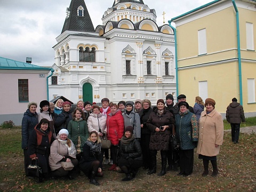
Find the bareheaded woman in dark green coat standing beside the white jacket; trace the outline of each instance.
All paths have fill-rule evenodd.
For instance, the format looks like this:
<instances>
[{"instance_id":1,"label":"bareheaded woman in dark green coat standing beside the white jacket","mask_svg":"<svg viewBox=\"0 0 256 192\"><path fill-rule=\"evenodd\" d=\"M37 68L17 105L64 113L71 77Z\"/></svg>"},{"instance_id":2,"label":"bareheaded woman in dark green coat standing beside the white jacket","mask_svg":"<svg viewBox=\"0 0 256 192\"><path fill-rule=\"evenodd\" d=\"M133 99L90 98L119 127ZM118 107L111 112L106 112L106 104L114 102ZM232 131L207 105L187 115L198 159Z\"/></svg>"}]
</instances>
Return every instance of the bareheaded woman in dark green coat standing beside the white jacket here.
<instances>
[{"instance_id":1,"label":"bareheaded woman in dark green coat standing beside the white jacket","mask_svg":"<svg viewBox=\"0 0 256 192\"><path fill-rule=\"evenodd\" d=\"M76 147L76 158L78 159L78 161L83 155L84 143L89 138L87 122L85 121L85 119L83 119L83 117L84 112L82 111L82 109L76 108L74 110L73 120L71 120L68 124L68 139L71 139Z\"/></svg>"}]
</instances>

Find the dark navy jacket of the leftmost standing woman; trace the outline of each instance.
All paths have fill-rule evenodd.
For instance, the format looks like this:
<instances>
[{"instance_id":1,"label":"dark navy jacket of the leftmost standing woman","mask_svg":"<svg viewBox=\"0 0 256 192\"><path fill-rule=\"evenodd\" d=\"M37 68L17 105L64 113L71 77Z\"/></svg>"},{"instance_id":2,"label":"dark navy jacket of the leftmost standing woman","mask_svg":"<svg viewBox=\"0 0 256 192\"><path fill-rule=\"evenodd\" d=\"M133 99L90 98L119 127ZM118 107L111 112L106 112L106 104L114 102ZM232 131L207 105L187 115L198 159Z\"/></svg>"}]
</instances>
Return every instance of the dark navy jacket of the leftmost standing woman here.
<instances>
[{"instance_id":1,"label":"dark navy jacket of the leftmost standing woman","mask_svg":"<svg viewBox=\"0 0 256 192\"><path fill-rule=\"evenodd\" d=\"M24 113L21 123L21 147L26 149L28 147L28 138L31 131L38 124L37 113L32 114L29 109Z\"/></svg>"}]
</instances>

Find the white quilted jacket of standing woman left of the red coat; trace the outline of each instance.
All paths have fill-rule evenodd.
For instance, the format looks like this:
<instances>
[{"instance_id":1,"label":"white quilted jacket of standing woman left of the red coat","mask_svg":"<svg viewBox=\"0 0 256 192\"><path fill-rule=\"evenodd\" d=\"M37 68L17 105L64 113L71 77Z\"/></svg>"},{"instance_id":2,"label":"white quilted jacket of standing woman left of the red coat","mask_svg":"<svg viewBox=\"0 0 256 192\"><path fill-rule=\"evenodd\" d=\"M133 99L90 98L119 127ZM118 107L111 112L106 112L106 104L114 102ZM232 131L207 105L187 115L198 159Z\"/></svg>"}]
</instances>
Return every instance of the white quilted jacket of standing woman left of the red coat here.
<instances>
[{"instance_id":1,"label":"white quilted jacket of standing woman left of the red coat","mask_svg":"<svg viewBox=\"0 0 256 192\"><path fill-rule=\"evenodd\" d=\"M100 113L99 115L91 113L90 117L87 120L89 133L91 133L92 131L96 131L97 133L99 133L99 130L101 130L101 133L107 132L106 120L107 118L102 115L102 113Z\"/></svg>"}]
</instances>

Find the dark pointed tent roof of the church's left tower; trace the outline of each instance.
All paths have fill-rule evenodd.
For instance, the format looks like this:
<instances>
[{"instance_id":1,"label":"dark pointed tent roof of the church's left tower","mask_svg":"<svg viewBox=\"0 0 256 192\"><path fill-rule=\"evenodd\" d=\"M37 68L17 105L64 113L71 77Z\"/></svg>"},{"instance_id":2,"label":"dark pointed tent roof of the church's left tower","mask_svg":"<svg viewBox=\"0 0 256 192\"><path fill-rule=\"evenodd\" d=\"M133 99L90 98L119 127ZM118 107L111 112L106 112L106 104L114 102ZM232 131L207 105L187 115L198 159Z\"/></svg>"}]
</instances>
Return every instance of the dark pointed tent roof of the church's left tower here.
<instances>
[{"instance_id":1,"label":"dark pointed tent roof of the church's left tower","mask_svg":"<svg viewBox=\"0 0 256 192\"><path fill-rule=\"evenodd\" d=\"M84 8L83 17L77 15L77 9L80 5ZM90 18L90 14L87 10L84 0L71 0L69 9L70 14L69 17L65 20L61 33L66 30L94 32L92 20Z\"/></svg>"}]
</instances>

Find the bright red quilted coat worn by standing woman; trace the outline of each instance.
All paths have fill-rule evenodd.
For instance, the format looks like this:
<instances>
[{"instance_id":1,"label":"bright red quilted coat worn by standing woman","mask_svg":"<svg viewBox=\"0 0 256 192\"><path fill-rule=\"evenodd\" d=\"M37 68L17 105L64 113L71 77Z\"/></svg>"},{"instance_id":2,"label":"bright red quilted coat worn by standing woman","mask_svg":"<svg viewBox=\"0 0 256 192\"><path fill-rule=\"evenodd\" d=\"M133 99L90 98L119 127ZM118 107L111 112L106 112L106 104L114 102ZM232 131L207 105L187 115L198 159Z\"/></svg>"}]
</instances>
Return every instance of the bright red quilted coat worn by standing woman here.
<instances>
[{"instance_id":1,"label":"bright red quilted coat worn by standing woman","mask_svg":"<svg viewBox=\"0 0 256 192\"><path fill-rule=\"evenodd\" d=\"M124 135L124 118L121 110L117 110L115 114L108 114L106 121L107 137L112 145L118 145L119 139Z\"/></svg>"}]
</instances>

